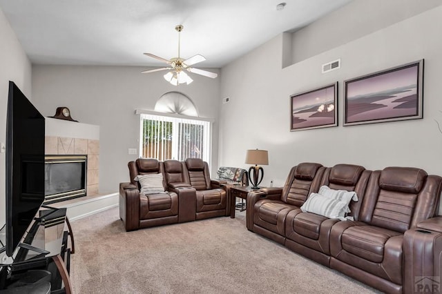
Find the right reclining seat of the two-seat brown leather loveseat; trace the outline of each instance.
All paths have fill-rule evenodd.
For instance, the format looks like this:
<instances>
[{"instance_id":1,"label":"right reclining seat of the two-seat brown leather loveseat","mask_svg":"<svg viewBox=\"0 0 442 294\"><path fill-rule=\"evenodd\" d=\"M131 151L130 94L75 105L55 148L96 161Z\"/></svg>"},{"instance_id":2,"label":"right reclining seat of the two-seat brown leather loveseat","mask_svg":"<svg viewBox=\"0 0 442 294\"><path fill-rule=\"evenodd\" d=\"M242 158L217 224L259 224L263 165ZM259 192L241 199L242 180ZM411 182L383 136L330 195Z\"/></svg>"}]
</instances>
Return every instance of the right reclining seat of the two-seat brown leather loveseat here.
<instances>
[{"instance_id":1,"label":"right reclining seat of the two-seat brown leather loveseat","mask_svg":"<svg viewBox=\"0 0 442 294\"><path fill-rule=\"evenodd\" d=\"M183 162L184 179L195 188L196 219L227 216L227 193L220 182L210 178L209 165L198 158L188 158Z\"/></svg>"}]
</instances>

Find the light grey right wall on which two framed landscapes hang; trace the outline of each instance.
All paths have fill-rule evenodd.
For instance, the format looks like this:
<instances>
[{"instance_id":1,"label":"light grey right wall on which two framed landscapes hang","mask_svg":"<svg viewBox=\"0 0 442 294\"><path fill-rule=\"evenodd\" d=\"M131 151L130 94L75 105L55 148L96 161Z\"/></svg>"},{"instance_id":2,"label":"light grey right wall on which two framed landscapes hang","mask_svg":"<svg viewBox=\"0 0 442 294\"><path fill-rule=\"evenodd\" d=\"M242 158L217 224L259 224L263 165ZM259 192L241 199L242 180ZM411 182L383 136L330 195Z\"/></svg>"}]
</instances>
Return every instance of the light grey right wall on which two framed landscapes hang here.
<instances>
[{"instance_id":1,"label":"light grey right wall on which two framed landscapes hang","mask_svg":"<svg viewBox=\"0 0 442 294\"><path fill-rule=\"evenodd\" d=\"M371 2L376 6L383 1ZM390 12L413 8L405 4ZM352 17L365 14L363 8L354 6ZM335 21L339 21L345 19L347 11L343 8L335 14ZM442 134L435 122L442 122L441 15L439 6L353 41L347 42L343 37L339 46L284 69L282 48L287 46L283 42L285 37L280 35L222 68L221 96L231 97L231 102L220 103L220 165L248 167L244 164L245 151L262 148L269 150L264 185L273 179L276 186L281 186L291 166L302 161L325 166L361 164L368 169L416 166L442 175ZM356 25L351 29L358 30ZM311 31L310 38L320 37L323 31L331 32L329 26L325 19L323 26ZM342 61L339 70L321 73L323 63L338 58ZM423 58L423 119L342 126L343 81ZM290 132L290 95L336 81L339 126Z\"/></svg>"}]
</instances>

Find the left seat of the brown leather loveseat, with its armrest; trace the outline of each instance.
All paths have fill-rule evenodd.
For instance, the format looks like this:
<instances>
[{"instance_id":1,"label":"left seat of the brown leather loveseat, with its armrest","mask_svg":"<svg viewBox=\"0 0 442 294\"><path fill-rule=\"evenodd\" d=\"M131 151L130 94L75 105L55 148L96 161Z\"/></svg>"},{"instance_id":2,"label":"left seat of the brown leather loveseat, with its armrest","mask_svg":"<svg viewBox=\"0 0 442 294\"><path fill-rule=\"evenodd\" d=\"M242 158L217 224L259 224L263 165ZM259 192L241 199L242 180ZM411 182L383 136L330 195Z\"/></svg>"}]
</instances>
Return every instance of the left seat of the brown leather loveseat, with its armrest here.
<instances>
[{"instance_id":1,"label":"left seat of the brown leather loveseat, with its armrest","mask_svg":"<svg viewBox=\"0 0 442 294\"><path fill-rule=\"evenodd\" d=\"M128 163L130 183L119 184L119 217L126 231L178 222L178 196L175 192L140 194L137 175L162 174L166 190L164 165L157 159L137 159Z\"/></svg>"}]
</instances>

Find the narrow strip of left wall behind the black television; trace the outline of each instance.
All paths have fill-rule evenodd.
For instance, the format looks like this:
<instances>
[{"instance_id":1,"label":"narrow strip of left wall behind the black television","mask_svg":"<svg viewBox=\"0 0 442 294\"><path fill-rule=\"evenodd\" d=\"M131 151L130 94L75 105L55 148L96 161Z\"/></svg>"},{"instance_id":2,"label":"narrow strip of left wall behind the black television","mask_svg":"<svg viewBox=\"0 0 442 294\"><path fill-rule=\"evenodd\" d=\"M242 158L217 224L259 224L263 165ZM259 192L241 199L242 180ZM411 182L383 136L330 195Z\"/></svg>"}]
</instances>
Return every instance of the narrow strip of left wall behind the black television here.
<instances>
[{"instance_id":1,"label":"narrow strip of left wall behind the black television","mask_svg":"<svg viewBox=\"0 0 442 294\"><path fill-rule=\"evenodd\" d=\"M31 99L30 79L30 61L0 9L0 143L6 143L9 81L14 81L28 99ZM5 170L5 153L0 153L0 224L5 223Z\"/></svg>"}]
</instances>

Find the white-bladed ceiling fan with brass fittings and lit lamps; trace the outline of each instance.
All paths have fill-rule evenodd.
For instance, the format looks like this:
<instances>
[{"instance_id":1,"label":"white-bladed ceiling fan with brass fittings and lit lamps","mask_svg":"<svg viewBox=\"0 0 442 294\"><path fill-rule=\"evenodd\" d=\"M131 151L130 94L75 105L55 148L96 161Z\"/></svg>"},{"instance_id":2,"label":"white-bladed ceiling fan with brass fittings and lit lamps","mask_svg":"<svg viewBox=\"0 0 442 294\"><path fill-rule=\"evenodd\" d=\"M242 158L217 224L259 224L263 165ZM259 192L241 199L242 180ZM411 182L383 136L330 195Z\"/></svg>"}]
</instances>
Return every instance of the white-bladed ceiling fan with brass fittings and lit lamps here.
<instances>
[{"instance_id":1,"label":"white-bladed ceiling fan with brass fittings and lit lamps","mask_svg":"<svg viewBox=\"0 0 442 294\"><path fill-rule=\"evenodd\" d=\"M218 74L215 72L208 72L207 70L201 70L199 68L192 68L193 64L196 64L198 62L206 60L206 58L202 55L193 55L193 57L190 57L188 59L182 59L180 57L180 32L182 31L183 26L178 25L175 26L175 30L178 32L178 57L171 58L170 60L164 59L162 57L158 57L157 55L153 55L152 53L144 53L144 55L153 57L157 60L163 61L167 64L169 64L169 67L166 68L155 68L153 70L144 70L142 73L149 73L149 72L158 72L160 70L171 70L170 72L167 72L166 75L164 75L164 79L166 81L169 81L174 86L177 86L178 84L191 84L193 79L189 77L189 75L186 74L186 70L188 72L195 73L197 75L203 75L204 77L211 77L212 79L215 79L215 77L218 77Z\"/></svg>"}]
</instances>

